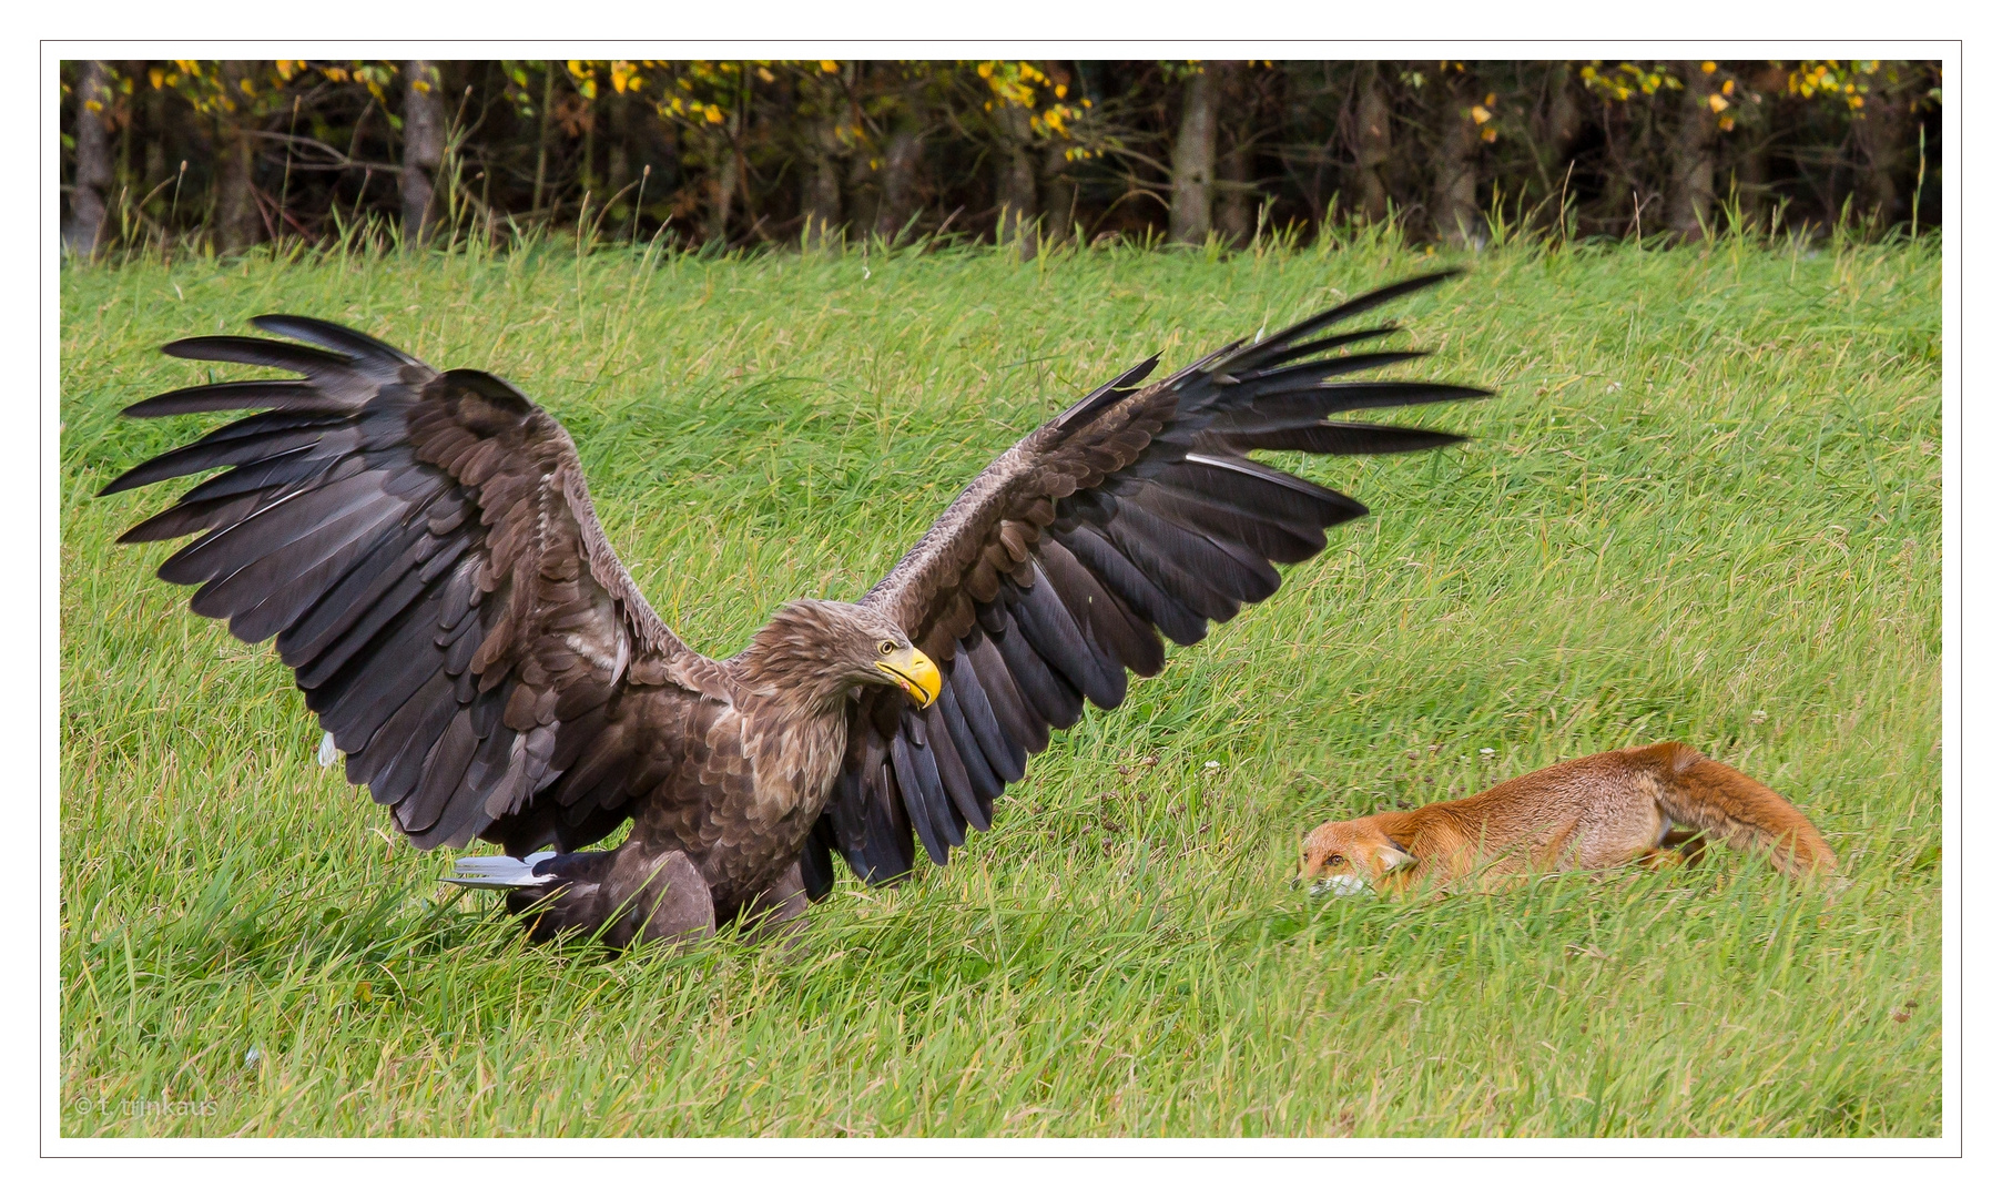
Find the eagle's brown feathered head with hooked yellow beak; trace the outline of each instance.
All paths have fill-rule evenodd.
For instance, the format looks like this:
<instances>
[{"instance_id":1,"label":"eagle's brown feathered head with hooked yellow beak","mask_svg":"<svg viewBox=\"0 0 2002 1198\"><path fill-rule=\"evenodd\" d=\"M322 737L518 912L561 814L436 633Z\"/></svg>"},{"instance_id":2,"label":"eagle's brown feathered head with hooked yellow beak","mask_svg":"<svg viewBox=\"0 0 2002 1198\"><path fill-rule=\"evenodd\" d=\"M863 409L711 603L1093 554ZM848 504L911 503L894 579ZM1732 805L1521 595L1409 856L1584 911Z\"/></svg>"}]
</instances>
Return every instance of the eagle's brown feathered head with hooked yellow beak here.
<instances>
[{"instance_id":1,"label":"eagle's brown feathered head with hooked yellow beak","mask_svg":"<svg viewBox=\"0 0 2002 1198\"><path fill-rule=\"evenodd\" d=\"M939 699L939 667L881 611L827 599L795 599L779 609L745 651L759 689L793 691L811 705L839 701L851 687L897 687L919 707Z\"/></svg>"}]
</instances>

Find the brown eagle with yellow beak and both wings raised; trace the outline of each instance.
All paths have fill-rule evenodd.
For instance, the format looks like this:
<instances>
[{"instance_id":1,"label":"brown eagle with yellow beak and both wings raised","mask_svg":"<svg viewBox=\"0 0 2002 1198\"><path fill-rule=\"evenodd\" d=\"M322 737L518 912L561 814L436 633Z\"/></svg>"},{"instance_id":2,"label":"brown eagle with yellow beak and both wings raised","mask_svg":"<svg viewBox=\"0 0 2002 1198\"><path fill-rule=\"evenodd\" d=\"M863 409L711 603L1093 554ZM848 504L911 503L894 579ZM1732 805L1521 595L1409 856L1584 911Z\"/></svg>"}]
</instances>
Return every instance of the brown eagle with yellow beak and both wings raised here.
<instances>
[{"instance_id":1,"label":"brown eagle with yellow beak and both wings raised","mask_svg":"<svg viewBox=\"0 0 2002 1198\"><path fill-rule=\"evenodd\" d=\"M126 417L250 411L132 467L114 495L228 467L122 543L200 533L160 565L190 607L276 637L346 775L418 849L474 837L458 881L529 936L613 948L765 934L835 881L945 865L1051 729L1163 637L1203 639L1367 509L1253 451L1405 453L1451 433L1335 413L1491 395L1349 379L1423 357L1335 331L1453 270L1369 290L1147 383L1159 355L1035 429L855 603L783 605L735 657L675 635L613 553L569 433L515 385L374 337L258 317L176 359L284 371L156 395ZM593 849L631 821L617 847Z\"/></svg>"}]
</instances>

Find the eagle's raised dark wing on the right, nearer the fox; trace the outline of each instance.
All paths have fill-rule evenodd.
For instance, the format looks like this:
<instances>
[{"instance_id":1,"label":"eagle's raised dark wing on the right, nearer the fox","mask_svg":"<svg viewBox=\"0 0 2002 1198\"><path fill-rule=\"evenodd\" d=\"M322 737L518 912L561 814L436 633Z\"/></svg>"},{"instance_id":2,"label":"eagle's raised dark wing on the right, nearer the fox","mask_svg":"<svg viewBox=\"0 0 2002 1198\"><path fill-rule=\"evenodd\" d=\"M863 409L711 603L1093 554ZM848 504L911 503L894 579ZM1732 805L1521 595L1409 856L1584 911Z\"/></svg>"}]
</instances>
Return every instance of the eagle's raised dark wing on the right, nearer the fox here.
<instances>
[{"instance_id":1,"label":"eagle's raised dark wing on the right, nearer the fox","mask_svg":"<svg viewBox=\"0 0 2002 1198\"><path fill-rule=\"evenodd\" d=\"M945 863L1023 775L1051 727L1091 699L1115 707L1127 671L1163 665L1161 637L1203 639L1279 587L1273 563L1319 553L1365 507L1251 461L1253 449L1403 453L1451 433L1331 423L1333 413L1489 395L1411 381L1337 381L1419 353L1335 355L1395 327L1315 337L1453 270L1397 282L1143 387L1153 361L1093 391L983 471L863 599L943 671L917 711L855 703L849 753L803 855L811 891L831 851L871 881L909 871L913 833Z\"/></svg>"}]
</instances>

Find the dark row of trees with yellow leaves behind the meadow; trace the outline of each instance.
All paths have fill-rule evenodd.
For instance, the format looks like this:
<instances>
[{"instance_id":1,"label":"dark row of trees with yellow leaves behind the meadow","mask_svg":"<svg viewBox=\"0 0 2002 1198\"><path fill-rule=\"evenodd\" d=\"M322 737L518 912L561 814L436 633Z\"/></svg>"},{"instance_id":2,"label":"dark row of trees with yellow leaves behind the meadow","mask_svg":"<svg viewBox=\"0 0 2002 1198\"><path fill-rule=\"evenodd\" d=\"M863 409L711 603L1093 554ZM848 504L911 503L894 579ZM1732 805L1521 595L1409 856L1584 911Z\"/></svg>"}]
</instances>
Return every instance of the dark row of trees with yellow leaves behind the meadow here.
<instances>
[{"instance_id":1,"label":"dark row of trees with yellow leaves behind the meadow","mask_svg":"<svg viewBox=\"0 0 2002 1198\"><path fill-rule=\"evenodd\" d=\"M62 64L76 254L1934 228L1938 62Z\"/></svg>"}]
</instances>

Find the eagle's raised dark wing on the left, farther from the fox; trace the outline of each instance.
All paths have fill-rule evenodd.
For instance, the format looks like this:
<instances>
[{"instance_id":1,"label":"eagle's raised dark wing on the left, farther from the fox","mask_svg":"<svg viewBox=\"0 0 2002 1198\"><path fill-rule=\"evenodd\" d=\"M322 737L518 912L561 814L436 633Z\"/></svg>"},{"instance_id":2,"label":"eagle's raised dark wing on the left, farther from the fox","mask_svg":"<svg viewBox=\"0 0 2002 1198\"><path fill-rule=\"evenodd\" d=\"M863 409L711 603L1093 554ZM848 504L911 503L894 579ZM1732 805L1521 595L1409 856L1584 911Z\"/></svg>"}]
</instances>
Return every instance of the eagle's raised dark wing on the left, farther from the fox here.
<instances>
[{"instance_id":1,"label":"eagle's raised dark wing on the left, farther from the fox","mask_svg":"<svg viewBox=\"0 0 2002 1198\"><path fill-rule=\"evenodd\" d=\"M601 839L641 793L637 695L703 689L691 653L605 543L571 437L515 387L438 373L338 325L260 317L168 355L292 371L126 409L264 409L104 493L228 471L122 541L202 533L160 567L248 643L278 637L348 779L418 847L521 853ZM655 699L659 695L655 693Z\"/></svg>"}]
</instances>

